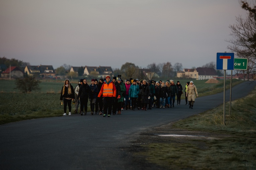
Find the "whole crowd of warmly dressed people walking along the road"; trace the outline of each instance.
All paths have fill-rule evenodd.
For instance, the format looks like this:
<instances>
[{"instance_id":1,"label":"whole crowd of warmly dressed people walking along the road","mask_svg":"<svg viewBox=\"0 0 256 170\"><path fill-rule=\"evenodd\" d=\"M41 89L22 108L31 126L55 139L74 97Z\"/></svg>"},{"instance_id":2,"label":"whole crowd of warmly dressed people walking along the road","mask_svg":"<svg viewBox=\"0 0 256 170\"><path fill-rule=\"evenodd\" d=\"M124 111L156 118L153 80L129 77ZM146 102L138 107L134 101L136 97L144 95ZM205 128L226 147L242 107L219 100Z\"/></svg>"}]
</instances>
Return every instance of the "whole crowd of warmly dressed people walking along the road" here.
<instances>
[{"instance_id":1,"label":"whole crowd of warmly dressed people walking along the road","mask_svg":"<svg viewBox=\"0 0 256 170\"><path fill-rule=\"evenodd\" d=\"M91 79L91 84L87 79L80 79L75 88L71 85L69 79L66 79L61 90L61 98L64 104L64 114L67 115L67 106L69 115L71 115L71 102L75 101L75 113L81 115L87 114L87 104L90 101L91 115L99 113L103 117L121 114L121 111L131 109L151 110L156 108L174 107L177 96L177 105L180 105L183 88L179 81L174 80L154 81L139 79L123 80L120 77L106 76L105 79ZM193 81L187 82L185 86L185 101L189 108L193 109L195 96L198 97L196 86ZM188 103L187 103L188 102ZM80 111L78 106L80 104Z\"/></svg>"}]
</instances>

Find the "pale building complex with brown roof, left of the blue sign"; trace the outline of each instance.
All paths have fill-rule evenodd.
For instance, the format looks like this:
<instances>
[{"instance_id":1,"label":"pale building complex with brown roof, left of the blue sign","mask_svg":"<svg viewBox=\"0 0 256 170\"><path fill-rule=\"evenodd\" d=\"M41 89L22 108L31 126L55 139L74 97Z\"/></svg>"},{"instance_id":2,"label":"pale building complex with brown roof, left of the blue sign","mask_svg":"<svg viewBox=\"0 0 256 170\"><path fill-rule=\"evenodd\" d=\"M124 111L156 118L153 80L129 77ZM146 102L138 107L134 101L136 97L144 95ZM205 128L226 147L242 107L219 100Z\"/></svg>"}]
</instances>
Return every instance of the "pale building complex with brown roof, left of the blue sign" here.
<instances>
[{"instance_id":1,"label":"pale building complex with brown roof, left of the blue sign","mask_svg":"<svg viewBox=\"0 0 256 170\"><path fill-rule=\"evenodd\" d=\"M218 76L214 68L198 67L196 69L183 69L177 72L177 77L194 78L197 80L212 79Z\"/></svg>"}]
</instances>

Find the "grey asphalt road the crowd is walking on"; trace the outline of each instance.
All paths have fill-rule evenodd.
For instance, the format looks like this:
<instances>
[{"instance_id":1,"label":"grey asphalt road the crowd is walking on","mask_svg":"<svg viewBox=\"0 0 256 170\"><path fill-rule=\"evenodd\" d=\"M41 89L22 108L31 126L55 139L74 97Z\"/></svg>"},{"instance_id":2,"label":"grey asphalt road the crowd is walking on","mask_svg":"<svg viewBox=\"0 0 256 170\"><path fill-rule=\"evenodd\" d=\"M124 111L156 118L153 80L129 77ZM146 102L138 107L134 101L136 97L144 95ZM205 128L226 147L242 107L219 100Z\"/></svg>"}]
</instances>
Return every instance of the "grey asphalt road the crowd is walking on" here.
<instances>
[{"instance_id":1,"label":"grey asphalt road the crowd is walking on","mask_svg":"<svg viewBox=\"0 0 256 170\"><path fill-rule=\"evenodd\" d=\"M232 100L254 89L243 82L232 89ZM229 90L226 101L229 101ZM110 118L79 114L26 120L0 125L1 170L133 170L132 155L123 150L138 134L187 118L223 104L223 92L196 99L194 109L185 101L174 108L122 111Z\"/></svg>"}]
</instances>

